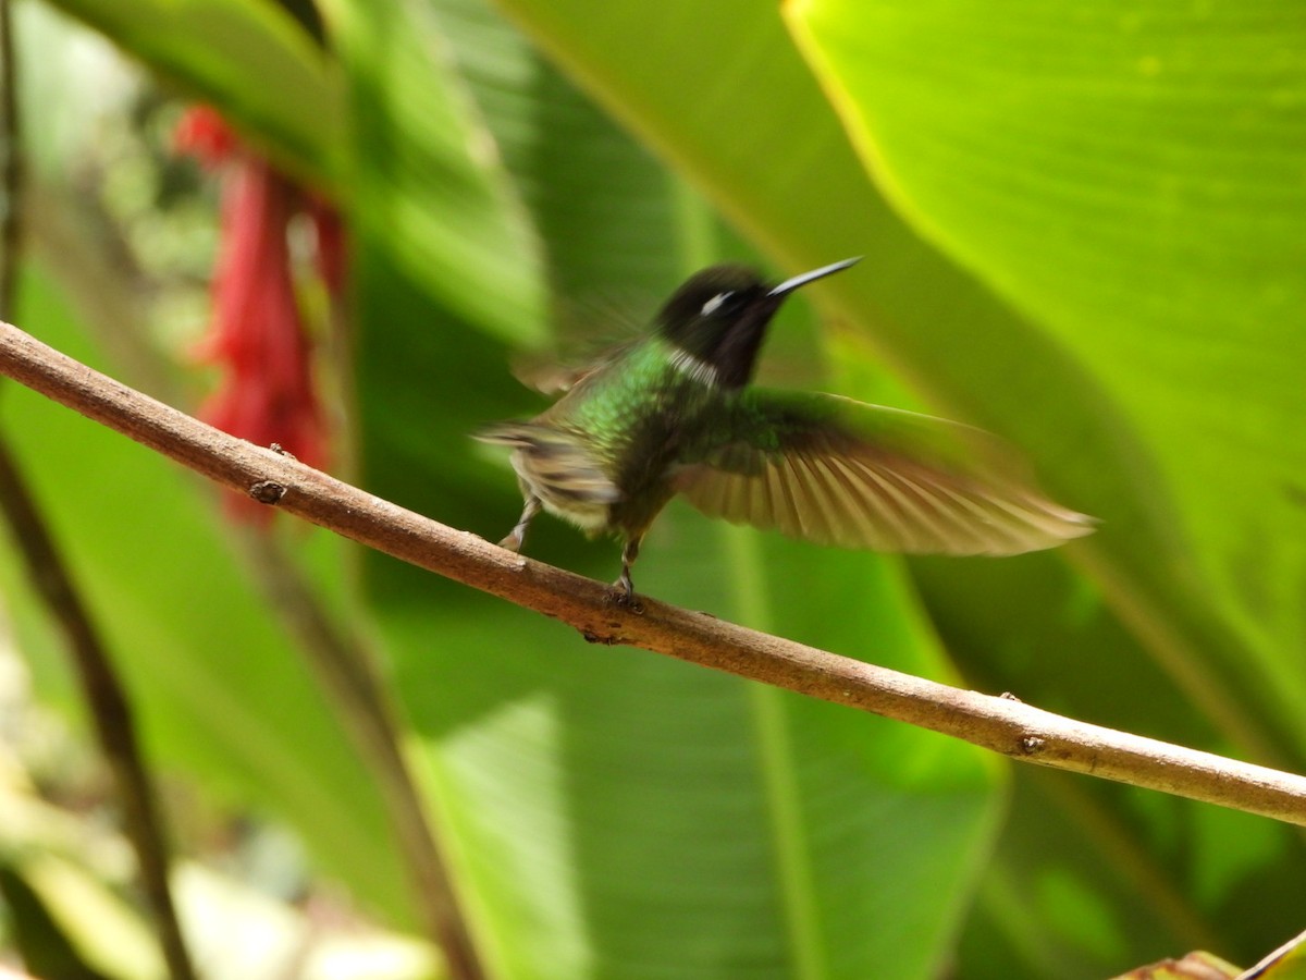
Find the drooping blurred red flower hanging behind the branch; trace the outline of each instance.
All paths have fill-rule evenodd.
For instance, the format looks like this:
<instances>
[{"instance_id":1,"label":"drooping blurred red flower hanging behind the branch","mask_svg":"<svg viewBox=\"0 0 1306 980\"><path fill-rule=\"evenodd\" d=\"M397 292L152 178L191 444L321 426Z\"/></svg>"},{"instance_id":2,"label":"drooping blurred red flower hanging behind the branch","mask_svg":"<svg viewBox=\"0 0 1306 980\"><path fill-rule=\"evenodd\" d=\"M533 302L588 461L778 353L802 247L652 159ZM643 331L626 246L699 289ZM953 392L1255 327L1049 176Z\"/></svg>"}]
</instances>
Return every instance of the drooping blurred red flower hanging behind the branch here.
<instances>
[{"instance_id":1,"label":"drooping blurred red flower hanging behind the branch","mask_svg":"<svg viewBox=\"0 0 1306 980\"><path fill-rule=\"evenodd\" d=\"M221 167L225 180L213 324L200 345L201 357L221 365L223 378L200 414L231 435L259 446L279 443L304 463L323 465L323 412L295 295L287 230L299 213L312 218L320 276L338 295L345 276L340 218L242 146L213 110L188 111L175 139L178 150ZM268 507L240 499L238 516L270 514Z\"/></svg>"}]
</instances>

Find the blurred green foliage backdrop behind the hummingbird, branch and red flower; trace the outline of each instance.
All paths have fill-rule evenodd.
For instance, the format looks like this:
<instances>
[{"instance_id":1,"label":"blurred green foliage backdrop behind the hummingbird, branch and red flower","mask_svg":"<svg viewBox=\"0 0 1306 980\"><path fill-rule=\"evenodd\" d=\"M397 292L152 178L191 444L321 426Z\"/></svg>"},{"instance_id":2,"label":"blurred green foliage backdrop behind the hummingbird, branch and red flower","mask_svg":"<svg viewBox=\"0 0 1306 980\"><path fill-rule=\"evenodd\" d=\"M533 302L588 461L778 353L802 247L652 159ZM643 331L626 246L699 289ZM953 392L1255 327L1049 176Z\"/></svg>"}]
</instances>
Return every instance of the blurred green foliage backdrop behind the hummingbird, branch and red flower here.
<instances>
[{"instance_id":1,"label":"blurred green foliage backdrop behind the hummingbird, branch and red flower","mask_svg":"<svg viewBox=\"0 0 1306 980\"><path fill-rule=\"evenodd\" d=\"M641 591L1302 770L1289 7L26 0L16 44L14 319L60 350L188 410L212 391L221 175L172 149L205 103L347 227L343 315L299 284L333 472L498 540L520 498L466 433L541 405L522 350L619 333L713 261L865 255L784 312L764 375L991 429L1098 534L905 563L673 506ZM197 478L29 392L0 413L140 712L206 976L441 972L402 938L410 858L304 604L380 665L492 976L1102 977L1199 947L1251 963L1301 929L1292 828L593 649L315 529L232 525ZM556 523L529 551L616 572ZM158 976L18 568L8 945L63 932L103 973ZM21 915L31 896L61 929Z\"/></svg>"}]
</instances>

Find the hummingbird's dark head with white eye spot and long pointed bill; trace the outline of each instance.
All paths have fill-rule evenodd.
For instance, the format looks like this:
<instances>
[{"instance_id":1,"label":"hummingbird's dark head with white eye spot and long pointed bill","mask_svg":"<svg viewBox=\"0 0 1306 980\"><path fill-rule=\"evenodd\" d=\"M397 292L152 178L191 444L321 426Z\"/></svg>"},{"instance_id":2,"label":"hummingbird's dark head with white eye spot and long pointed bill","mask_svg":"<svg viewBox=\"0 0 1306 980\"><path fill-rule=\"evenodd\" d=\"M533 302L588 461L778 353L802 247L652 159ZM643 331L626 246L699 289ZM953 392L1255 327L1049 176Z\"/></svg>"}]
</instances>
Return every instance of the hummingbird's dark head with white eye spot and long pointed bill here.
<instances>
[{"instance_id":1,"label":"hummingbird's dark head with white eye spot and long pointed bill","mask_svg":"<svg viewBox=\"0 0 1306 980\"><path fill-rule=\"evenodd\" d=\"M742 265L713 265L675 291L658 314L657 328L677 348L677 363L691 374L742 388L752 378L767 324L785 297L857 261L823 265L778 286L768 286Z\"/></svg>"}]
</instances>

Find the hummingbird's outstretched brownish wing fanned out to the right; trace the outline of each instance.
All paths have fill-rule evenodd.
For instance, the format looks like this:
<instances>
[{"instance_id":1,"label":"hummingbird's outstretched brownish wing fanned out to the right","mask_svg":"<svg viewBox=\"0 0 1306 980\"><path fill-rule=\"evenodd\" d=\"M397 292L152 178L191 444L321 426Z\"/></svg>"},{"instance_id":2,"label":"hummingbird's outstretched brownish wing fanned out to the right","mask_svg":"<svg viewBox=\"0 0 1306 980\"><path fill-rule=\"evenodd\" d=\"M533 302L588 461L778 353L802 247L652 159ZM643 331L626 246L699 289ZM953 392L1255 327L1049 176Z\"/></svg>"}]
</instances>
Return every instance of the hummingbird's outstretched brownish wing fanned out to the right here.
<instances>
[{"instance_id":1,"label":"hummingbird's outstretched brownish wing fanned out to the right","mask_svg":"<svg viewBox=\"0 0 1306 980\"><path fill-rule=\"evenodd\" d=\"M833 395L747 389L722 442L677 474L713 517L842 547L1020 554L1093 531L980 430Z\"/></svg>"}]
</instances>

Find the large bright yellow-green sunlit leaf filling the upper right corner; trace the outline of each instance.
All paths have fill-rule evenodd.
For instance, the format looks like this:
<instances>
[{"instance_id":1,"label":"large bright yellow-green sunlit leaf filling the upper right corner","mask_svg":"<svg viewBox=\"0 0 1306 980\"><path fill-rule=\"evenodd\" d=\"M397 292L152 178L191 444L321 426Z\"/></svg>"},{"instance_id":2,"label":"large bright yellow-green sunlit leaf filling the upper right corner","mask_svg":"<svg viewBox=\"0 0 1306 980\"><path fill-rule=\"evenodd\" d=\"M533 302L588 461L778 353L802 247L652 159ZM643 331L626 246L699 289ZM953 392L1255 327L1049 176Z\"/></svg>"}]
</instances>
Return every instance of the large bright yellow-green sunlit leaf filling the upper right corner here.
<instances>
[{"instance_id":1,"label":"large bright yellow-green sunlit leaf filling the upper right corner","mask_svg":"<svg viewBox=\"0 0 1306 980\"><path fill-rule=\"evenodd\" d=\"M1268 712L1299 758L1306 670L1284 656L1306 640L1299 18L1162 0L789 12L868 171L1074 359L1148 461L1147 482L1093 495L1113 600L1226 732L1271 755L1251 720ZM995 417L1043 408L993 392ZM1051 436L1030 433L1043 459L1070 451ZM1164 523L1117 531L1121 490Z\"/></svg>"}]
</instances>

